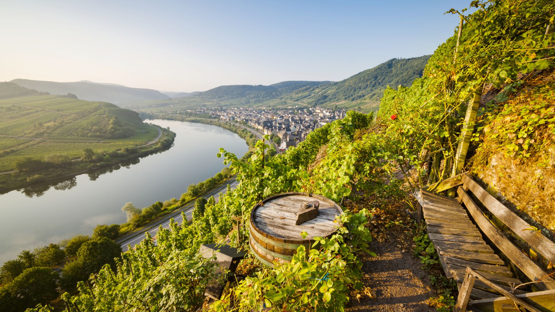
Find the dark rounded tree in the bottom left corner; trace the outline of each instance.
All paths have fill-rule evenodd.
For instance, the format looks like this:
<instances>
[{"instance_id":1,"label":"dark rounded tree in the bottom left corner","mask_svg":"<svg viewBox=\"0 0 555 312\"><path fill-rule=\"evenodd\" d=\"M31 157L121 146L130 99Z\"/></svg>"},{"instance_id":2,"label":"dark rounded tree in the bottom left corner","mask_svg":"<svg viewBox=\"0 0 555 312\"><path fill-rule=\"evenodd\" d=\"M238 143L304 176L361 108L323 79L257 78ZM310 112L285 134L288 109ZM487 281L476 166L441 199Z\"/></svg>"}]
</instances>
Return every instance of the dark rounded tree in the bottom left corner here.
<instances>
[{"instance_id":1,"label":"dark rounded tree in the bottom left corner","mask_svg":"<svg viewBox=\"0 0 555 312\"><path fill-rule=\"evenodd\" d=\"M11 283L2 287L5 292L0 294L0 309L22 311L55 299L58 296L57 279L58 274L50 268L36 266L25 269Z\"/></svg>"}]
</instances>

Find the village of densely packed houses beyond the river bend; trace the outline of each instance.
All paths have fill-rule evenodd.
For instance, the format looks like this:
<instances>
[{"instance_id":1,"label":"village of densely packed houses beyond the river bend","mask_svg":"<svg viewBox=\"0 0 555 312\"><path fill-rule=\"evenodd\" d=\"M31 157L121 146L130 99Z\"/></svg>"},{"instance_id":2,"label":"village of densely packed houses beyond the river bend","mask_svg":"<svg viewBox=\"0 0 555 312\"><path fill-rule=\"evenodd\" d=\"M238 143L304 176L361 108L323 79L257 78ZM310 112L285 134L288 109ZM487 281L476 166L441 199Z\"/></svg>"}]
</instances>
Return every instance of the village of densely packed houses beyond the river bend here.
<instances>
[{"instance_id":1,"label":"village of densely packed houses beyond the river bend","mask_svg":"<svg viewBox=\"0 0 555 312\"><path fill-rule=\"evenodd\" d=\"M344 117L344 110L321 107L290 107L282 109L244 107L202 107L196 113L210 114L214 118L249 125L263 134L279 137L279 149L295 147L314 129Z\"/></svg>"}]
</instances>

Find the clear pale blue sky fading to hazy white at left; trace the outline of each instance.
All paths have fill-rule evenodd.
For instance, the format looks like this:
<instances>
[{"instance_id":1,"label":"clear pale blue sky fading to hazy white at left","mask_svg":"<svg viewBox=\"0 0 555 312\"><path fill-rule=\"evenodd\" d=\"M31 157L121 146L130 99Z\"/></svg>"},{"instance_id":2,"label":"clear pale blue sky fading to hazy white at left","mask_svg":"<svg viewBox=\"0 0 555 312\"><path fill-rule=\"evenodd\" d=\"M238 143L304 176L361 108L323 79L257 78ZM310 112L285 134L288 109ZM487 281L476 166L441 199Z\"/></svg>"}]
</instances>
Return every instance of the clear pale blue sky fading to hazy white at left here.
<instances>
[{"instance_id":1,"label":"clear pale blue sky fading to hazy white at left","mask_svg":"<svg viewBox=\"0 0 555 312\"><path fill-rule=\"evenodd\" d=\"M0 1L0 81L157 90L341 80L452 36L460 1Z\"/></svg>"}]
</instances>

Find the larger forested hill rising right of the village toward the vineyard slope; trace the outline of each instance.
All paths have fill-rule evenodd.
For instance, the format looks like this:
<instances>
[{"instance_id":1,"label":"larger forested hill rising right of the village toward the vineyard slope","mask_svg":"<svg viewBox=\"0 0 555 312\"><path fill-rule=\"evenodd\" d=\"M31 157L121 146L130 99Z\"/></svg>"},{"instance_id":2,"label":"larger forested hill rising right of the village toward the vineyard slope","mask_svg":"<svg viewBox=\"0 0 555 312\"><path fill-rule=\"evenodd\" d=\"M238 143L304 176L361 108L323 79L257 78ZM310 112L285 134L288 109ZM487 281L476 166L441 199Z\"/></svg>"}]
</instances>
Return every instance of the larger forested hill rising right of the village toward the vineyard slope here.
<instances>
[{"instance_id":1,"label":"larger forested hill rising right of the village toward the vineyard slope","mask_svg":"<svg viewBox=\"0 0 555 312\"><path fill-rule=\"evenodd\" d=\"M385 63L366 69L339 82L299 88L285 96L285 99L310 105L326 105L337 102L379 102L387 85L410 87L422 72L430 56L413 58L393 58Z\"/></svg>"}]
</instances>

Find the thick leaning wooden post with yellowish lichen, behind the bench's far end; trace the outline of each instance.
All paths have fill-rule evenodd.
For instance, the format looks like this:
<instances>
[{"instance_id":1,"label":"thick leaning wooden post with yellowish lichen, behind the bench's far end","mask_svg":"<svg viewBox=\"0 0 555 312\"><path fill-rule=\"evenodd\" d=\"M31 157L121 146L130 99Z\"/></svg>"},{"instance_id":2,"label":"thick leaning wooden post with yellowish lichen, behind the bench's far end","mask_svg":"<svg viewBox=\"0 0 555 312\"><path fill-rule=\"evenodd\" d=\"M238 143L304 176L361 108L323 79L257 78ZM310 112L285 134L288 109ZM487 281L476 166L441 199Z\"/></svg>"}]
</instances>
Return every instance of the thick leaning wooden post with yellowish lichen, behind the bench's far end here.
<instances>
[{"instance_id":1,"label":"thick leaning wooden post with yellowish lichen, behind the bench's far end","mask_svg":"<svg viewBox=\"0 0 555 312\"><path fill-rule=\"evenodd\" d=\"M472 138L474 123L476 121L476 115L478 114L478 107L480 107L480 99L482 98L482 89L483 84L480 84L480 88L474 92L472 100L468 102L465 122L462 124L461 136L458 140L457 154L455 155L455 162L453 163L452 176L461 173L462 168L465 166L466 153L468 152L468 147L470 146L470 139Z\"/></svg>"}]
</instances>

